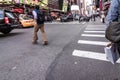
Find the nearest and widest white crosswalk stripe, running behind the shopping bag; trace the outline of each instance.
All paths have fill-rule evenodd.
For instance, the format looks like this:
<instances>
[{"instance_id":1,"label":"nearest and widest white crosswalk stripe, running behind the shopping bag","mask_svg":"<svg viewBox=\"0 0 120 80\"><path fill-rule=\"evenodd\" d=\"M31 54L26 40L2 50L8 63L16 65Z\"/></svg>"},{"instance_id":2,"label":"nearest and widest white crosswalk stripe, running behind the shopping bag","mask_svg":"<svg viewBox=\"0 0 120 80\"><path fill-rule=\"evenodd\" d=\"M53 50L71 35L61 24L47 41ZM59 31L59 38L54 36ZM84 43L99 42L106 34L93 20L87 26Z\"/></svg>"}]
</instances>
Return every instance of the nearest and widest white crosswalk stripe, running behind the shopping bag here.
<instances>
[{"instance_id":1,"label":"nearest and widest white crosswalk stripe, running behind the shopping bag","mask_svg":"<svg viewBox=\"0 0 120 80\"><path fill-rule=\"evenodd\" d=\"M77 57L101 60L101 61L109 61L109 60L106 59L106 55L104 53L97 53L97 52L91 52L91 51L82 51L82 50L74 50L72 55L77 56ZM120 63L120 60L118 60L117 63Z\"/></svg>"}]
</instances>

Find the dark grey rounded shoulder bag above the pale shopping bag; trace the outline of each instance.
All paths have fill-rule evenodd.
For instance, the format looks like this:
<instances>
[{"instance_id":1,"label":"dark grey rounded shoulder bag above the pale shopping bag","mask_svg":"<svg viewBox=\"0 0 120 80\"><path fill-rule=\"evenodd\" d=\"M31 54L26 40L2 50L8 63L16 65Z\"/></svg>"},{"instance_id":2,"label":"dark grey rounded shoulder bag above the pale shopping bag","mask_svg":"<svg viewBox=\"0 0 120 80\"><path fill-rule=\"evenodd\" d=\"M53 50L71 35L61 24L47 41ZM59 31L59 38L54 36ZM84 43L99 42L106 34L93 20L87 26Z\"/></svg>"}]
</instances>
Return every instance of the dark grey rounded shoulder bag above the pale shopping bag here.
<instances>
[{"instance_id":1,"label":"dark grey rounded shoulder bag above the pale shopping bag","mask_svg":"<svg viewBox=\"0 0 120 80\"><path fill-rule=\"evenodd\" d=\"M111 22L106 28L105 37L110 42L119 43L120 42L120 22Z\"/></svg>"}]
</instances>

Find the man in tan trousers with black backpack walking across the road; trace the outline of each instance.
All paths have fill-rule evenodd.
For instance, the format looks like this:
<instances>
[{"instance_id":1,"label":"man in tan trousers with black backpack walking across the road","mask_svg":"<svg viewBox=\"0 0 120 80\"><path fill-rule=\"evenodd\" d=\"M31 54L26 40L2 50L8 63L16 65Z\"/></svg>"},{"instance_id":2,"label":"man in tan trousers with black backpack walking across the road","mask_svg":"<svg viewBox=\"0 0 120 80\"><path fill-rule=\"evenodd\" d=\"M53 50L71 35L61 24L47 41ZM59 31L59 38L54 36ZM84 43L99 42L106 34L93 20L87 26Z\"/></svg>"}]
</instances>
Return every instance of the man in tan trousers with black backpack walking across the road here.
<instances>
[{"instance_id":1,"label":"man in tan trousers with black backpack walking across the road","mask_svg":"<svg viewBox=\"0 0 120 80\"><path fill-rule=\"evenodd\" d=\"M33 34L33 43L36 44L38 40L38 31L41 31L44 45L48 44L48 39L44 30L45 15L44 12L40 9L38 5L35 6L35 9L32 11L34 16L34 34Z\"/></svg>"}]
</instances>

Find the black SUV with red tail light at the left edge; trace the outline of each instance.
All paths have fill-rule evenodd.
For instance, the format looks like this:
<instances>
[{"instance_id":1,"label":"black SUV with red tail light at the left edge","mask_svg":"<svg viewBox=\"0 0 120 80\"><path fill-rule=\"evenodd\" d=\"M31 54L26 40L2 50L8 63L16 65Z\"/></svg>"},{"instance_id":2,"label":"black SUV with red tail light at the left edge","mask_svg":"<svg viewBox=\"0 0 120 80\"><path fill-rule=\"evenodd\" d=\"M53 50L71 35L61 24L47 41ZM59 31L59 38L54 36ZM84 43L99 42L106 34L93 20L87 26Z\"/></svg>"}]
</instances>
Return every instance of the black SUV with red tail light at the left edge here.
<instances>
[{"instance_id":1,"label":"black SUV with red tail light at the left edge","mask_svg":"<svg viewBox=\"0 0 120 80\"><path fill-rule=\"evenodd\" d=\"M10 33L14 28L20 27L19 18L8 10L0 10L0 32Z\"/></svg>"}]
</instances>

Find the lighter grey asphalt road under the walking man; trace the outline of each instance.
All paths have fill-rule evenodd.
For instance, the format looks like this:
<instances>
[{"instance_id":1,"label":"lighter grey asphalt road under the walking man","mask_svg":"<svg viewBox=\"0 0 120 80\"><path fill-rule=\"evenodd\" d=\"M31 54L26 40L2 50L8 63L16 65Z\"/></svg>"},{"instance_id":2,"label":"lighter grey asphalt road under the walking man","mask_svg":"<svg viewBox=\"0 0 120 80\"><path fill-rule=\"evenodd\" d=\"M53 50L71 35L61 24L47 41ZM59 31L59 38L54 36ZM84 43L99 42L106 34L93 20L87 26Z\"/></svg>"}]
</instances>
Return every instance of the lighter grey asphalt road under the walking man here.
<instances>
[{"instance_id":1,"label":"lighter grey asphalt road under the walking man","mask_svg":"<svg viewBox=\"0 0 120 80\"><path fill-rule=\"evenodd\" d=\"M0 34L0 80L45 80L51 63L85 25L45 24L47 46L43 45L40 32L38 44L32 44L33 28Z\"/></svg>"}]
</instances>

